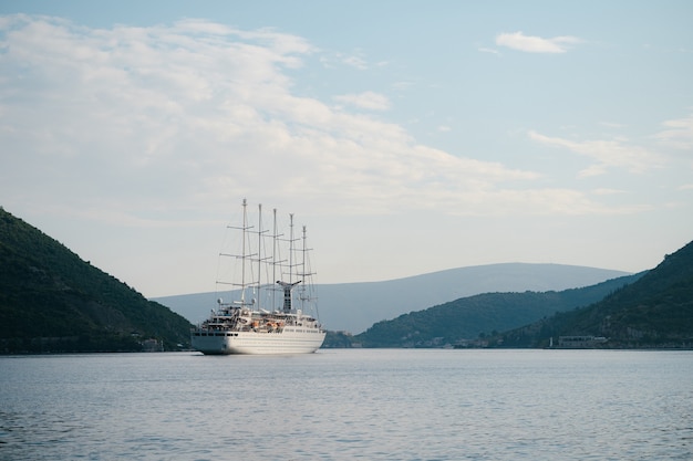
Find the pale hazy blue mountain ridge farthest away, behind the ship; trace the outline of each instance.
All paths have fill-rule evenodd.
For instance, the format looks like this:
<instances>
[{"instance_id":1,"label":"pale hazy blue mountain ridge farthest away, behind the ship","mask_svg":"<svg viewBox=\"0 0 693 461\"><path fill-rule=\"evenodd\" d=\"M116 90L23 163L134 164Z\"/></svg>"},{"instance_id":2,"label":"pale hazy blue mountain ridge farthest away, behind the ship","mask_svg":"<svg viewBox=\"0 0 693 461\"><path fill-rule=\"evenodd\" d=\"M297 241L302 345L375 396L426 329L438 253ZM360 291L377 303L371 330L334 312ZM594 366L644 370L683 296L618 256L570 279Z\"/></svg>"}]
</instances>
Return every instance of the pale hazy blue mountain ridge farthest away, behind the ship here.
<instances>
[{"instance_id":1,"label":"pale hazy blue mountain ridge farthest away, behind the ship","mask_svg":"<svg viewBox=\"0 0 693 461\"><path fill-rule=\"evenodd\" d=\"M561 291L629 275L628 272L565 264L501 263L449 269L383 282L318 284L320 319L329 331L361 333L395 318L461 297L493 292ZM193 323L216 306L215 292L155 297Z\"/></svg>"}]
</instances>

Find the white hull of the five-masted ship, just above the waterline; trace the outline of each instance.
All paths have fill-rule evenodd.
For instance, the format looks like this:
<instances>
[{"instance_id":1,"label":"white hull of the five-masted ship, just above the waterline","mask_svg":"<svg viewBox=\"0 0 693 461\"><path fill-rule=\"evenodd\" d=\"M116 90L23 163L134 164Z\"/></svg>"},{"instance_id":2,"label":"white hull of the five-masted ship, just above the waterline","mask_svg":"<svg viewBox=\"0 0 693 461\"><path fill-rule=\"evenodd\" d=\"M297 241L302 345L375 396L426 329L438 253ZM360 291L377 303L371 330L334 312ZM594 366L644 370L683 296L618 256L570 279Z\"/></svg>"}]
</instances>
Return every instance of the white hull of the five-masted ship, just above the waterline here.
<instances>
[{"instance_id":1,"label":"white hull of the five-masted ship, just above the waterline","mask_svg":"<svg viewBox=\"0 0 693 461\"><path fill-rule=\"evenodd\" d=\"M324 340L323 331L293 329L285 328L281 333L195 332L193 348L205 355L310 354Z\"/></svg>"}]
</instances>

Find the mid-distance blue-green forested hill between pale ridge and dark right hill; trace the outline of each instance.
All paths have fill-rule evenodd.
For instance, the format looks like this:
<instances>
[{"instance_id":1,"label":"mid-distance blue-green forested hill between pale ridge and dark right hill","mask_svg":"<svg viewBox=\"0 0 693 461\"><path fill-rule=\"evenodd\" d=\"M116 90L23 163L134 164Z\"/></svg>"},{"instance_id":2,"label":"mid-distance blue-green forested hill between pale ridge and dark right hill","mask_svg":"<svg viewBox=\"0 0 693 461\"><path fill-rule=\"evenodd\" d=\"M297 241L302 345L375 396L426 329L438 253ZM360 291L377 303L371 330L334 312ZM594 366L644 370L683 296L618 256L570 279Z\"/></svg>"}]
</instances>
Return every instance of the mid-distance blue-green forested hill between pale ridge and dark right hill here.
<instances>
[{"instance_id":1,"label":"mid-distance blue-green forested hill between pale ridge and dark right hill","mask_svg":"<svg viewBox=\"0 0 693 461\"><path fill-rule=\"evenodd\" d=\"M374 324L353 336L363 347L442 347L480 344L485 338L536 322L556 312L586 306L603 298L642 274L627 275L593 286L560 292L487 293L463 297L425 311ZM345 338L341 338L345 339ZM337 347L340 338L331 337ZM330 343L328 343L329 345Z\"/></svg>"}]
</instances>

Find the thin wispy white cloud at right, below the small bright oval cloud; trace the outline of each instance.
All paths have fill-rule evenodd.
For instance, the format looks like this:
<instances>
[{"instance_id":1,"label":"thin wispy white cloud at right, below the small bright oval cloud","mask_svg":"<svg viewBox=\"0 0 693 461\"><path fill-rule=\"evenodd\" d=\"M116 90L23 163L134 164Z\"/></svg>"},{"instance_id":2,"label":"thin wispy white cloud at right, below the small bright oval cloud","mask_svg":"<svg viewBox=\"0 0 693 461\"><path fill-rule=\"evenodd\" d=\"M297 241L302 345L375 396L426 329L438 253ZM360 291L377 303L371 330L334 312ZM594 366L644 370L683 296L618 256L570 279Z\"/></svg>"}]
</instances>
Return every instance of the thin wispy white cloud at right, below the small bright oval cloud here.
<instances>
[{"instance_id":1,"label":"thin wispy white cloud at right, below the small bright oval cloud","mask_svg":"<svg viewBox=\"0 0 693 461\"><path fill-rule=\"evenodd\" d=\"M580 177L603 175L609 168L623 168L630 172L644 172L651 168L659 168L664 164L662 156L644 147L628 145L622 139L576 142L549 137L536 132L529 132L529 138L547 146L567 148L576 154L597 160L596 164L580 171Z\"/></svg>"}]
</instances>

